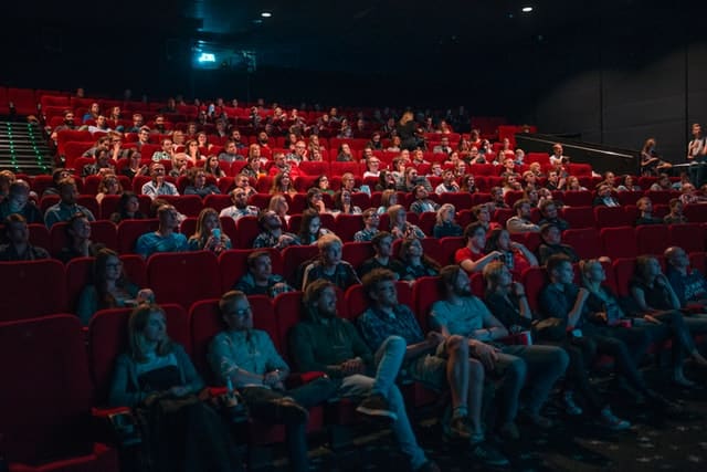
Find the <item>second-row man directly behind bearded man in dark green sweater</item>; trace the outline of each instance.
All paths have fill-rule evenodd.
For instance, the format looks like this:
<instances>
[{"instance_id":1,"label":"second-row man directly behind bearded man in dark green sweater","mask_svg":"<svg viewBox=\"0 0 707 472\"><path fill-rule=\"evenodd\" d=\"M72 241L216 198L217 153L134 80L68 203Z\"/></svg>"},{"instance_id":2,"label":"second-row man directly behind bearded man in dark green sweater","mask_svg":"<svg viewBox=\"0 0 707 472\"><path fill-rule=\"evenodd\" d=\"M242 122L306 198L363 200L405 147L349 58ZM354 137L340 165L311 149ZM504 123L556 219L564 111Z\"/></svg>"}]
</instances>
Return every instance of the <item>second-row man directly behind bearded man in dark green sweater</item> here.
<instances>
[{"instance_id":1,"label":"second-row man directly behind bearded man in dark green sweater","mask_svg":"<svg viewBox=\"0 0 707 472\"><path fill-rule=\"evenodd\" d=\"M302 291L304 292L312 282L325 279L344 292L354 284L361 283L356 275L354 266L341 260L341 240L333 233L324 234L317 240L319 256L306 266Z\"/></svg>"}]
</instances>

